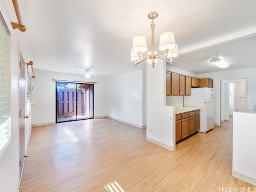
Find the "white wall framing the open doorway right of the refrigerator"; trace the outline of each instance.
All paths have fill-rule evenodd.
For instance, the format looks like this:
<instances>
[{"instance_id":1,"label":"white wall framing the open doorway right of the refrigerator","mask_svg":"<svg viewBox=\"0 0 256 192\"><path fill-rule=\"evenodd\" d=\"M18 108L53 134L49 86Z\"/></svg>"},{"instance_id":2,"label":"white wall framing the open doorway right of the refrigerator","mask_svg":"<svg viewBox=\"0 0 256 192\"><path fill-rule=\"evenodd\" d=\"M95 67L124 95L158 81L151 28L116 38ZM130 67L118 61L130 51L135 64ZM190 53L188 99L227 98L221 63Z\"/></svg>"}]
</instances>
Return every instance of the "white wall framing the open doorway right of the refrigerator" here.
<instances>
[{"instance_id":1,"label":"white wall framing the open doorway right of the refrigerator","mask_svg":"<svg viewBox=\"0 0 256 192\"><path fill-rule=\"evenodd\" d=\"M199 74L198 78L212 78L214 87L214 123L220 126L220 81L230 79L247 79L247 111L253 109L253 105L256 104L256 78L255 78L256 67L246 68L239 70L229 70L223 72L214 72ZM252 99L252 103L248 100Z\"/></svg>"}]
</instances>

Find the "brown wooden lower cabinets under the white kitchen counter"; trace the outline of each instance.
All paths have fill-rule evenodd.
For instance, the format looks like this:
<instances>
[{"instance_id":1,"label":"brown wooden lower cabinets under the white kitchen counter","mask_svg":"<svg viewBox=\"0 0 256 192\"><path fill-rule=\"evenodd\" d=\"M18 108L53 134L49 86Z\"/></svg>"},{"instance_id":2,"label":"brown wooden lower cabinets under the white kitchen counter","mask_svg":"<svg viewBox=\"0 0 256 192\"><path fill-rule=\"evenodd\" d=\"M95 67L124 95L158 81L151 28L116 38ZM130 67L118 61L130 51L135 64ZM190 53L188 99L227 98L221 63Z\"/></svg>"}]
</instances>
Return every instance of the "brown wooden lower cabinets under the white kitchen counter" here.
<instances>
[{"instance_id":1,"label":"brown wooden lower cabinets under the white kitchen counter","mask_svg":"<svg viewBox=\"0 0 256 192\"><path fill-rule=\"evenodd\" d=\"M176 142L200 129L200 110L176 115Z\"/></svg>"}]
</instances>

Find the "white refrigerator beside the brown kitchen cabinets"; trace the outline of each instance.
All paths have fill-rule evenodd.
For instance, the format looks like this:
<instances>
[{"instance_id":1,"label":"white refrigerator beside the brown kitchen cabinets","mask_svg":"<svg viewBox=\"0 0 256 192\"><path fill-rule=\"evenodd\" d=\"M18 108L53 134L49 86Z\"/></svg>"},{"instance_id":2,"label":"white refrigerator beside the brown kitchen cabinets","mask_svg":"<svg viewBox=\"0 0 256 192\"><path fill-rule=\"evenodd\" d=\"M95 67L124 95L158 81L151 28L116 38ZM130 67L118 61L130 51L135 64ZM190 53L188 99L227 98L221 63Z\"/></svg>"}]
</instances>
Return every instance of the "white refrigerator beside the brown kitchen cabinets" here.
<instances>
[{"instance_id":1,"label":"white refrigerator beside the brown kitchen cabinets","mask_svg":"<svg viewBox=\"0 0 256 192\"><path fill-rule=\"evenodd\" d=\"M190 96L184 96L184 107L200 107L200 130L206 133L214 128L213 88L192 88Z\"/></svg>"}]
</instances>

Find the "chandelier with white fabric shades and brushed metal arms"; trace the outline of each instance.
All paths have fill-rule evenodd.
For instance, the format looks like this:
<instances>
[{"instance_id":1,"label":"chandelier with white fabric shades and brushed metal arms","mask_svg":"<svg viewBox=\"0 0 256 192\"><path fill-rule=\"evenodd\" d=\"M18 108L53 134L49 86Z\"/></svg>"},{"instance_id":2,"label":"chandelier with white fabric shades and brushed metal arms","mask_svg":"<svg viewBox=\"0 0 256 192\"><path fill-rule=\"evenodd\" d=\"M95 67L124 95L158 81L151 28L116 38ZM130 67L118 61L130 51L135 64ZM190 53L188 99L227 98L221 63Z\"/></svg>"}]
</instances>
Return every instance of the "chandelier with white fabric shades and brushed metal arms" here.
<instances>
[{"instance_id":1,"label":"chandelier with white fabric shades and brushed metal arms","mask_svg":"<svg viewBox=\"0 0 256 192\"><path fill-rule=\"evenodd\" d=\"M142 56L142 53L148 50L146 38L142 35L136 36L132 39L131 60L134 61L135 66L140 64L144 60L147 63L152 63L152 67L155 67L155 63L158 62L158 58L170 62L172 64L173 58L178 56L178 45L175 43L173 32L164 32L160 35L159 50L164 51L164 55L159 55L154 50L154 19L157 18L157 12L150 12L148 18L152 19L151 26L151 51L146 56Z\"/></svg>"}]
</instances>

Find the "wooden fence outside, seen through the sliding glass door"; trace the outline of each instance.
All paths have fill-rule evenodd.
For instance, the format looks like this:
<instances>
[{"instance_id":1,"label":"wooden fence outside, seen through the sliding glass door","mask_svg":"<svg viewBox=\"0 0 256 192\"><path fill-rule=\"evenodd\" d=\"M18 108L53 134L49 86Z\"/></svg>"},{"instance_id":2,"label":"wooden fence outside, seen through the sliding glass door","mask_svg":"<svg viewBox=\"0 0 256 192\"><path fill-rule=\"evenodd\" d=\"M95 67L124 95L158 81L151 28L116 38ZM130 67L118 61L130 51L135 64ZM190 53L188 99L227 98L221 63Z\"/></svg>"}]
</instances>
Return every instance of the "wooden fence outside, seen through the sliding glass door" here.
<instances>
[{"instance_id":1,"label":"wooden fence outside, seen through the sliding glass door","mask_svg":"<svg viewBox=\"0 0 256 192\"><path fill-rule=\"evenodd\" d=\"M58 89L57 90L57 116L67 117L84 115L85 112L84 89Z\"/></svg>"}]
</instances>

